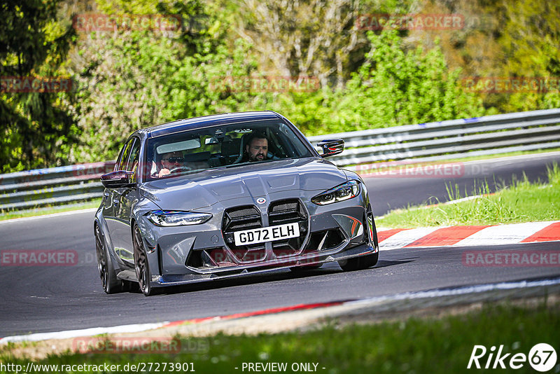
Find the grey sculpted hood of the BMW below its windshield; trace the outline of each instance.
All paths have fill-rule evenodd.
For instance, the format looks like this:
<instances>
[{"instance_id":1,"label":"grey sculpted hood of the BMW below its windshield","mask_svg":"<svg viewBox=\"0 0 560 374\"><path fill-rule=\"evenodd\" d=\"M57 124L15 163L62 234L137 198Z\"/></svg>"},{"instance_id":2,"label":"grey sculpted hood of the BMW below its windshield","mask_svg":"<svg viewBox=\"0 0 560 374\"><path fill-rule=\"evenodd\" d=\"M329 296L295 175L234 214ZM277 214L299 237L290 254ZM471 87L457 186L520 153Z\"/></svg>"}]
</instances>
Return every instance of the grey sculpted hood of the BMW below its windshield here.
<instances>
[{"instance_id":1,"label":"grey sculpted hood of the BMW below its windshield","mask_svg":"<svg viewBox=\"0 0 560 374\"><path fill-rule=\"evenodd\" d=\"M216 202L258 198L286 190L325 191L346 174L320 158L275 160L211 169L144 183L141 194L165 210L192 210Z\"/></svg>"}]
</instances>

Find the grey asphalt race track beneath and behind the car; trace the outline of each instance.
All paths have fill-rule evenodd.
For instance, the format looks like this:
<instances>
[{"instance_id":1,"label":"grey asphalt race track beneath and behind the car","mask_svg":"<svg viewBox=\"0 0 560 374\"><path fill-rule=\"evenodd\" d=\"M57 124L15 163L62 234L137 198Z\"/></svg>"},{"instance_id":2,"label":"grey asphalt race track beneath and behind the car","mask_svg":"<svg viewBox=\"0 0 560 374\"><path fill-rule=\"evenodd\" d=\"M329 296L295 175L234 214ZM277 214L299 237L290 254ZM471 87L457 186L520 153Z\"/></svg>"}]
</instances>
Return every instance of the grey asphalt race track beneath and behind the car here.
<instances>
[{"instance_id":1,"label":"grey asphalt race track beneath and behind the car","mask_svg":"<svg viewBox=\"0 0 560 374\"><path fill-rule=\"evenodd\" d=\"M374 214L437 198L447 200L445 183L472 188L486 178L491 188L523 172L545 180L546 166L560 163L560 153L505 162L465 164L456 179L368 178ZM462 263L469 249L519 251L557 249L557 242L476 248L407 248L382 251L374 268L342 272L337 264L304 275L279 271L235 281L183 286L146 298L141 293L106 295L95 263L93 212L0 223L1 250L68 249L78 254L72 266L0 266L0 337L97 326L174 321L301 303L325 303L407 291L492 282L559 277L557 267L491 268Z\"/></svg>"}]
</instances>

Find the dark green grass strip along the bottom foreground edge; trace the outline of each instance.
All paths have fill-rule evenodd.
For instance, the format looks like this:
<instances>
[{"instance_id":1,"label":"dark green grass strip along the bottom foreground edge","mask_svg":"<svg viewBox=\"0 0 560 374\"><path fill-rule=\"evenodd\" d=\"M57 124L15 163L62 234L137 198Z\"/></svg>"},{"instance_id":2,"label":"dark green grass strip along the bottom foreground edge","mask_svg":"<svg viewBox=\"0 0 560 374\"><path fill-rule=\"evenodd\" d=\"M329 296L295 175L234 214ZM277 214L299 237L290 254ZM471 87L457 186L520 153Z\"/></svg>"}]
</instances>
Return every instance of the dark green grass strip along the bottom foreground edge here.
<instances>
[{"instance_id":1,"label":"dark green grass strip along the bottom foreground edge","mask_svg":"<svg viewBox=\"0 0 560 374\"><path fill-rule=\"evenodd\" d=\"M211 338L189 338L181 347L202 347L197 353L181 354L57 354L40 363L120 364L193 363L197 373L243 373L245 362L318 363L318 373L472 373L466 368L474 345L504 345L503 352L528 355L533 345L547 342L560 347L560 305L486 305L482 310L436 318L409 317L378 324L328 326L304 333L247 335L218 334ZM3 363L27 364L25 357L13 358L0 350ZM481 359L484 366L488 354ZM511 355L510 355L511 357ZM507 363L508 360L506 360ZM235 369L235 368L238 369ZM325 368L325 369L323 369ZM556 367L557 372L558 367ZM160 371L162 368L160 368ZM155 370L152 371L152 373ZM475 370L479 371L479 370ZM510 373L534 373L528 363ZM123 372L123 370L117 370ZM551 373L554 370L551 371ZM42 373L55 373L43 370ZM171 373L165 370L165 373Z\"/></svg>"}]
</instances>

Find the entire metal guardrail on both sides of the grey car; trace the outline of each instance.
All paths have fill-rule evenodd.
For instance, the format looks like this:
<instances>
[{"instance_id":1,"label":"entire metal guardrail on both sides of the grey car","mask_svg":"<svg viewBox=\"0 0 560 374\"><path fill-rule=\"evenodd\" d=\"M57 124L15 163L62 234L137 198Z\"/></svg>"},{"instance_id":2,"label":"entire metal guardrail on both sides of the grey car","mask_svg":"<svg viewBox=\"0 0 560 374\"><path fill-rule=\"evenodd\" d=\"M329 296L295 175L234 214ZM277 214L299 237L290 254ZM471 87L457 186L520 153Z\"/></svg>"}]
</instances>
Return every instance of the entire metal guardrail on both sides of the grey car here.
<instances>
[{"instance_id":1,"label":"entire metal guardrail on both sides of the grey car","mask_svg":"<svg viewBox=\"0 0 560 374\"><path fill-rule=\"evenodd\" d=\"M308 137L344 139L329 158L358 172L364 164L392 160L431 162L477 155L560 147L560 109L444 120ZM102 196L99 176L115 162L95 162L0 175L0 211L60 205ZM358 165L358 167L356 167ZM366 165L367 166L367 165Z\"/></svg>"}]
</instances>

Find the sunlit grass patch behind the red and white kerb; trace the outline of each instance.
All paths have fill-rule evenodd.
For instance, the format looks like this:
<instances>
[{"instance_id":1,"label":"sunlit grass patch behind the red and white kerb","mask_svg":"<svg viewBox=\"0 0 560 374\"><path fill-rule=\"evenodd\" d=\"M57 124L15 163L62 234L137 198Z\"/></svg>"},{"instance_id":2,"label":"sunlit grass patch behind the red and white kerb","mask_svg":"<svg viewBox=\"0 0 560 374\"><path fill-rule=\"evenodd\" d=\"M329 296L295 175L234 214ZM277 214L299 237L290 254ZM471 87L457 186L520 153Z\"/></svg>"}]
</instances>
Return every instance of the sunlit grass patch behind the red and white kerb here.
<instances>
[{"instance_id":1,"label":"sunlit grass patch behind the red and white kerb","mask_svg":"<svg viewBox=\"0 0 560 374\"><path fill-rule=\"evenodd\" d=\"M560 168L547 171L548 183L513 181L510 188L489 195L487 183L475 186L475 195L482 198L397 209L377 221L383 228L414 228L426 226L491 225L560 220ZM463 198L457 186L447 188L449 200Z\"/></svg>"}]
</instances>

